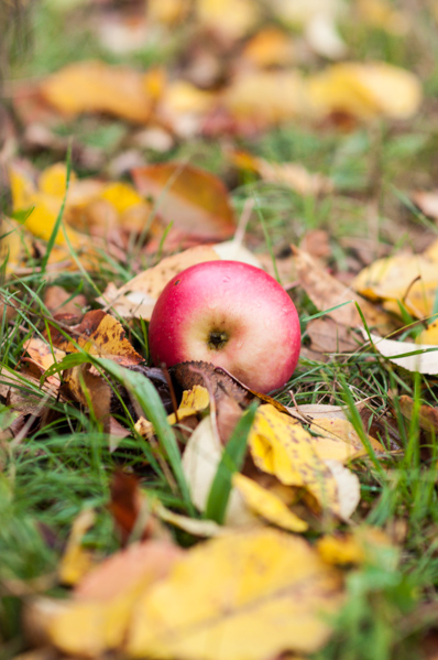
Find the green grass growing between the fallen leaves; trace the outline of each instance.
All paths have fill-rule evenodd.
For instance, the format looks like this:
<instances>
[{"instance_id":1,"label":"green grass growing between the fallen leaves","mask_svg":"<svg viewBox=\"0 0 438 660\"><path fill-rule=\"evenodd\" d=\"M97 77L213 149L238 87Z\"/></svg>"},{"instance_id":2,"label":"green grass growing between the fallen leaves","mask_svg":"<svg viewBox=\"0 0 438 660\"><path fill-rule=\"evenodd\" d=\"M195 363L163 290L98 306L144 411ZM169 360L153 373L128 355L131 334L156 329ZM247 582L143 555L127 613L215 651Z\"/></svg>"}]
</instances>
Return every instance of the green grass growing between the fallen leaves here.
<instances>
[{"instance_id":1,"label":"green grass growing between the fallen leaves","mask_svg":"<svg viewBox=\"0 0 438 660\"><path fill-rule=\"evenodd\" d=\"M102 52L88 31L81 32L81 10L75 13L76 30L68 32L65 40L58 39L63 14L47 4L34 11L32 56L19 53L12 77L24 75L35 79L77 58L114 61ZM419 232L428 230L432 236L435 228L430 224L424 226L424 218L406 202L404 191L431 187L438 174L435 158L438 122L432 110L432 97L438 88L438 52L425 15L421 8L416 15L416 37L410 41L379 29L370 30L360 22L346 31L355 58L384 58L414 67L421 74L427 93L426 109L409 126L394 128L382 121L349 132L333 127L315 130L309 126L288 126L272 129L256 139L239 139L240 148L251 149L262 158L300 162L310 171L330 176L337 191L331 196L303 197L284 187L263 184L251 174L237 176L218 143L204 139L176 144L165 156L149 151L144 155L156 162L189 158L194 164L232 181L232 202L238 213L248 199L256 201L248 228L250 240L262 251L270 247L274 256L289 242L298 244L307 230L317 228L330 234L330 264L338 271L347 272L352 258L340 245L342 237L373 238L377 245L392 250L415 245ZM145 66L169 62L176 52L176 40L172 40L163 47L154 43L151 48L121 61ZM121 122L98 123L88 118L59 125L56 131L62 138L73 134L75 143L100 149L108 156L118 152L127 134ZM52 159L51 152L44 152L35 156L33 163L41 170ZM79 173L85 175L89 171L85 169ZM8 198L2 205L9 208ZM377 228L369 221L370 206L376 209ZM6 307L0 314L0 383L9 370L20 365L25 340L45 328L45 261L44 256L35 258L34 264L41 270L7 282L3 279L1 297L18 301L19 314L12 322L7 320ZM110 281L127 281L133 274L130 269L129 262L118 263L102 255L100 272L87 275L88 281L84 273L72 272L59 274L55 282L72 294L83 291L92 306L96 290L101 291ZM296 290L294 299L303 317L318 313L303 291ZM406 323L408 321L406 318ZM303 337L306 345L306 323L303 323ZM144 356L147 356L146 339L146 327L135 328L133 343ZM121 440L113 452L101 423L87 414L85 408L63 401L54 403L56 414L44 429L30 428L17 445L6 439L0 441L1 660L9 660L25 649L20 619L23 596L41 589L39 580L47 581L46 588L41 591L51 593L54 586L51 576L72 523L81 510L94 508L97 511L96 523L86 537L87 545L102 556L119 548L108 510L111 476L117 468L140 475L142 487L165 506L199 516L190 502L182 472L177 445L180 439L168 426L155 390L139 374L127 374L105 360L94 359L94 364L107 375L114 397L119 391L116 383L122 382L154 421L172 479L163 470L156 452L133 430L125 404L119 407L118 415L132 435ZM397 369L372 349L361 349L351 355L333 354L327 361L304 357L287 387L276 396L278 401L291 404L289 390L294 391L298 404L347 404L365 445L365 432L373 423L390 415L393 424L393 433L384 424L380 426L379 440L388 450L386 458L375 458L368 447L369 457L358 462L361 504L354 513L354 523L373 524L394 534L399 550L376 551L376 556L366 564L351 570L347 603L335 620L335 635L315 660L423 658L423 641L436 627L438 607L438 450L436 437L421 431L418 411L421 404L438 404L437 382L434 378ZM24 387L23 392L25 397L30 393L41 397L34 386ZM414 400L410 422L401 413L402 394ZM369 411L366 428L354 407L363 400ZM9 415L9 407L0 399L0 428L1 424L7 426ZM251 411L247 422L250 415ZM247 433L247 428L237 430L230 444L231 461L227 463L225 458L220 464L210 493L208 512L218 521L223 516L221 505L229 494L231 473L241 461ZM396 454L390 452L394 434L403 450ZM182 540L183 534L178 539ZM189 544L194 539L185 537L184 542Z\"/></svg>"}]
</instances>

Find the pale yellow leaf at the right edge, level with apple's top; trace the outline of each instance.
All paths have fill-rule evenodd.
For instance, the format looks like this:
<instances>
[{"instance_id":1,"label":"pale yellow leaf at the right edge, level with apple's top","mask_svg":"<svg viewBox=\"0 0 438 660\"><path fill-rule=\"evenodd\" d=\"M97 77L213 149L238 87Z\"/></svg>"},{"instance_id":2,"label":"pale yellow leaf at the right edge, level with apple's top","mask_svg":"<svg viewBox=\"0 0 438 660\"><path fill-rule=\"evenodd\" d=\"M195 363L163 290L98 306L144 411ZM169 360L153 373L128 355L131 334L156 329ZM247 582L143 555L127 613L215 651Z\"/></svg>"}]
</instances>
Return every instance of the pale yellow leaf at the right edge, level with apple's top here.
<instances>
[{"instance_id":1,"label":"pale yellow leaf at the right edge, level with apple's top","mask_svg":"<svg viewBox=\"0 0 438 660\"><path fill-rule=\"evenodd\" d=\"M364 268L352 283L371 300L382 299L384 307L399 314L397 301L417 318L430 316L438 286L437 264L420 255L397 255L377 259Z\"/></svg>"}]
</instances>

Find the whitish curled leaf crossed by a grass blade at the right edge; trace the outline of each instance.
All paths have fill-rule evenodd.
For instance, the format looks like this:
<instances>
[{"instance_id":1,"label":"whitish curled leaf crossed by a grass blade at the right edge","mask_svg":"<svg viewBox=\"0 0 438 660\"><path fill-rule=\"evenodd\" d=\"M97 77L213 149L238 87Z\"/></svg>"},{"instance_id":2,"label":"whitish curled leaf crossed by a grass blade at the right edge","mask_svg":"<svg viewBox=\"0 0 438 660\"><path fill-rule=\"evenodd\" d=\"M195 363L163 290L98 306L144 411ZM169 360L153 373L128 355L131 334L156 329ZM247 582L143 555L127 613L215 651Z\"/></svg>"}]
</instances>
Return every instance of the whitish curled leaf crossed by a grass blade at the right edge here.
<instances>
[{"instance_id":1,"label":"whitish curled leaf crossed by a grass blade at the right edge","mask_svg":"<svg viewBox=\"0 0 438 660\"><path fill-rule=\"evenodd\" d=\"M368 338L365 333L363 335ZM383 339L373 334L370 336L379 353L397 367L403 367L408 371L418 371L419 374L438 374L438 346Z\"/></svg>"}]
</instances>

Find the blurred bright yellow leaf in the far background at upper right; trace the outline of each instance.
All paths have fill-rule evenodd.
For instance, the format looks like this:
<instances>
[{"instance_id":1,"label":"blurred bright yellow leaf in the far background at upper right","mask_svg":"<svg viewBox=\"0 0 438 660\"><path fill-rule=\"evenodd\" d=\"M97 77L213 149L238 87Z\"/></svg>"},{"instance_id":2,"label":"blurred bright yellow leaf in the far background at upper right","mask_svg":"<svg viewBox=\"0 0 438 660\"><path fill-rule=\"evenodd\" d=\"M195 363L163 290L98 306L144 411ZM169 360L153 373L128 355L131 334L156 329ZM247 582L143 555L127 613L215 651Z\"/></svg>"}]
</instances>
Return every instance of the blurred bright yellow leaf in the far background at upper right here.
<instances>
[{"instance_id":1,"label":"blurred bright yellow leaf in the far background at upper right","mask_svg":"<svg viewBox=\"0 0 438 660\"><path fill-rule=\"evenodd\" d=\"M316 112L341 110L360 119L407 119L421 102L418 78L384 62L335 64L311 76L308 90Z\"/></svg>"}]
</instances>

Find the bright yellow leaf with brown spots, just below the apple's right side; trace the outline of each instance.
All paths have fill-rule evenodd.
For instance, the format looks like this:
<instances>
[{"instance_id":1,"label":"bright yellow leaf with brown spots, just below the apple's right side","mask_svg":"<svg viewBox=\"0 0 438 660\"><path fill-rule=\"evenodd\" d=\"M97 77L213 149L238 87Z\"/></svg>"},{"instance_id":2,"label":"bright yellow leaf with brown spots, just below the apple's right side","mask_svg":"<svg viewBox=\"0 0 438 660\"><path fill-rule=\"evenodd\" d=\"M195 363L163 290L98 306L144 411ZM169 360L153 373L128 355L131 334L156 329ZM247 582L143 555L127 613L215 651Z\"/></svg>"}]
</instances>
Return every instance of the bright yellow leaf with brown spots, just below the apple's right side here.
<instances>
[{"instance_id":1,"label":"bright yellow leaf with brown spots, just below the apple's right side","mask_svg":"<svg viewBox=\"0 0 438 660\"><path fill-rule=\"evenodd\" d=\"M259 469L287 486L306 488L321 507L339 512L333 476L319 458L313 436L296 420L269 403L261 405L248 445Z\"/></svg>"}]
</instances>

